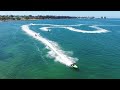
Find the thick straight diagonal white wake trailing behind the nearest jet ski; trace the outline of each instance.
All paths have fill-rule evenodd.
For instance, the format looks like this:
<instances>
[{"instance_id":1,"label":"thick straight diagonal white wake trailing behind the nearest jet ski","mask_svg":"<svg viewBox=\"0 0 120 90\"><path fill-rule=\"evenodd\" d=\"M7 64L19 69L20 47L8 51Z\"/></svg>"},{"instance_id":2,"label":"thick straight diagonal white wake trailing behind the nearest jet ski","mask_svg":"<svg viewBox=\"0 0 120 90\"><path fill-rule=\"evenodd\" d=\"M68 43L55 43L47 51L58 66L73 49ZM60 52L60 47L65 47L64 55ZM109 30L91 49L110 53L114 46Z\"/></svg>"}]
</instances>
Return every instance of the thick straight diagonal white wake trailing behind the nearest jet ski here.
<instances>
[{"instance_id":1,"label":"thick straight diagonal white wake trailing behind the nearest jet ski","mask_svg":"<svg viewBox=\"0 0 120 90\"><path fill-rule=\"evenodd\" d=\"M56 42L50 41L44 37L42 37L40 34L36 33L35 31L32 31L29 28L30 24L22 25L21 28L24 32L26 32L29 36L32 36L33 38L37 39L41 43L43 43L47 49L50 50L49 54L55 58L56 61L59 61L62 64L65 64L66 66L73 65L78 59L73 58L71 56L68 56L65 51L61 50L60 47Z\"/></svg>"}]
</instances>

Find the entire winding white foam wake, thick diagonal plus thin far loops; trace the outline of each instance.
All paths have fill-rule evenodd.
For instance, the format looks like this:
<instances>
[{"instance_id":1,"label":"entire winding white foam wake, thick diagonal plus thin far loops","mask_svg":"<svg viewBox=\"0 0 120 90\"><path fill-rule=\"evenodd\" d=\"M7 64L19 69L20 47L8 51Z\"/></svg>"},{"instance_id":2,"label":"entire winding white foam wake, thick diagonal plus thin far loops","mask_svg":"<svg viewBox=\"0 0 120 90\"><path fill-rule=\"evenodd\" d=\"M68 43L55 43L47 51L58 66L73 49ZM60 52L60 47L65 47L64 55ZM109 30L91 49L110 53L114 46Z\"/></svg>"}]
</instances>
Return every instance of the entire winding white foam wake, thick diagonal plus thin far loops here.
<instances>
[{"instance_id":1,"label":"entire winding white foam wake, thick diagonal plus thin far loops","mask_svg":"<svg viewBox=\"0 0 120 90\"><path fill-rule=\"evenodd\" d=\"M80 29L76 29L76 28L72 27L72 26L81 26L83 24L54 25L54 24L33 24L33 23L31 23L31 24L21 26L22 30L25 31L29 36L32 36L33 38L40 41L41 43L43 43L46 46L46 48L49 50L48 54L47 54L47 56L49 58L54 58L55 61L58 61L67 66L73 65L78 59L71 57L71 55L69 55L68 52L63 51L56 42L48 40L48 39L42 37L39 33L31 30L29 28L29 26L31 26L31 25L33 25L33 26L41 25L42 27L40 28L40 30L42 30L42 31L51 31L51 28L64 28L64 29L67 29L70 31L81 32L81 33L107 33L107 32L109 32L108 30L100 28L97 25L89 26L91 28L96 29L94 31L80 30Z\"/></svg>"}]
</instances>

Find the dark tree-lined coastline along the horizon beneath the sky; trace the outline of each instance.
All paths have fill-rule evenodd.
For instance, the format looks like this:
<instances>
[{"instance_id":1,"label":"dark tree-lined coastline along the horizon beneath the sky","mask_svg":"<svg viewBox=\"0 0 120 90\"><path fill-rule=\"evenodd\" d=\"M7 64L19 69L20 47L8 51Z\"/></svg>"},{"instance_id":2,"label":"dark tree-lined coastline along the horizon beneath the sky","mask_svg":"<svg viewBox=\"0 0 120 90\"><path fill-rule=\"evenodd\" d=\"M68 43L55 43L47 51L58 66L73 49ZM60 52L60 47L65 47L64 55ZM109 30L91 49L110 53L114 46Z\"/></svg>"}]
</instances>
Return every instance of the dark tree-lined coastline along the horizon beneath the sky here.
<instances>
[{"instance_id":1,"label":"dark tree-lined coastline along the horizon beneath the sky","mask_svg":"<svg viewBox=\"0 0 120 90\"><path fill-rule=\"evenodd\" d=\"M72 17L72 16L19 16L19 15L0 15L0 21L13 21L13 20L43 20L43 19L95 19L95 17ZM101 17L101 19L106 19L106 17Z\"/></svg>"}]
</instances>

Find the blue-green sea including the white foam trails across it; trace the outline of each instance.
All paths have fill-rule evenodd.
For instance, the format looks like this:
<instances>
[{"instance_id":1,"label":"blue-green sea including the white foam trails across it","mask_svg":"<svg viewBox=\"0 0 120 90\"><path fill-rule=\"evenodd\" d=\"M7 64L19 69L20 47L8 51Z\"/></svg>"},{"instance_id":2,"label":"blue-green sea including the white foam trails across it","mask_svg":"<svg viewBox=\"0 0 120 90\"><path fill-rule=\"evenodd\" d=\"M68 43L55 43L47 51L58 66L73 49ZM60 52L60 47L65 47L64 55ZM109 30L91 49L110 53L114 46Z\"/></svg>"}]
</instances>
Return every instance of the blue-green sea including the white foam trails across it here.
<instances>
[{"instance_id":1,"label":"blue-green sea including the white foam trails across it","mask_svg":"<svg viewBox=\"0 0 120 90\"><path fill-rule=\"evenodd\" d=\"M0 79L119 78L120 19L0 22Z\"/></svg>"}]
</instances>

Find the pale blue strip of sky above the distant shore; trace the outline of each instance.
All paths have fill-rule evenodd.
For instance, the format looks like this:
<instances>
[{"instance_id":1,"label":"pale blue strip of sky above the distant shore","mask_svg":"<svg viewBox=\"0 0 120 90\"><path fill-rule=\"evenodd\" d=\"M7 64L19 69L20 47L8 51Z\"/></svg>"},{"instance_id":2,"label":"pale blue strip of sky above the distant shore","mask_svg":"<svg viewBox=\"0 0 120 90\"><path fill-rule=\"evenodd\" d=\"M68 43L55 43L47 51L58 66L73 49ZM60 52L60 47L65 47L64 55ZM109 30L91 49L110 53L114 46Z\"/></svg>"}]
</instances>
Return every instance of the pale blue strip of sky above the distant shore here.
<instances>
[{"instance_id":1,"label":"pale blue strip of sky above the distant shore","mask_svg":"<svg viewBox=\"0 0 120 90\"><path fill-rule=\"evenodd\" d=\"M106 16L120 18L120 11L0 11L0 15Z\"/></svg>"}]
</instances>

